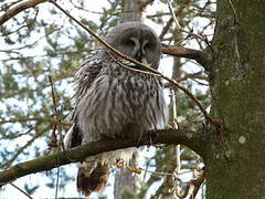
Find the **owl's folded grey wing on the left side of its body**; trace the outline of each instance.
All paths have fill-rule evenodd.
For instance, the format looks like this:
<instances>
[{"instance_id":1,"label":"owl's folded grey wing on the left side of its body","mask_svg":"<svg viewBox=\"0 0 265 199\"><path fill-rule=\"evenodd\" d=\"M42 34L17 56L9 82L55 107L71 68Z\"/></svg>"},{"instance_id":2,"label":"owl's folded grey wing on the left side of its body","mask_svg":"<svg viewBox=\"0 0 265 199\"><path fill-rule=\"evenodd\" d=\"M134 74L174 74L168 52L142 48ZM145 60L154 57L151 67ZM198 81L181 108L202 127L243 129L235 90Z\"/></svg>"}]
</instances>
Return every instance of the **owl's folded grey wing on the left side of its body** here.
<instances>
[{"instance_id":1,"label":"owl's folded grey wing on the left side of its body","mask_svg":"<svg viewBox=\"0 0 265 199\"><path fill-rule=\"evenodd\" d=\"M87 56L75 74L75 94L72 98L73 111L67 117L73 125L64 138L65 149L73 148L82 144L82 133L77 126L78 112L76 107L102 70L102 62L98 54L99 53L93 53Z\"/></svg>"}]
</instances>

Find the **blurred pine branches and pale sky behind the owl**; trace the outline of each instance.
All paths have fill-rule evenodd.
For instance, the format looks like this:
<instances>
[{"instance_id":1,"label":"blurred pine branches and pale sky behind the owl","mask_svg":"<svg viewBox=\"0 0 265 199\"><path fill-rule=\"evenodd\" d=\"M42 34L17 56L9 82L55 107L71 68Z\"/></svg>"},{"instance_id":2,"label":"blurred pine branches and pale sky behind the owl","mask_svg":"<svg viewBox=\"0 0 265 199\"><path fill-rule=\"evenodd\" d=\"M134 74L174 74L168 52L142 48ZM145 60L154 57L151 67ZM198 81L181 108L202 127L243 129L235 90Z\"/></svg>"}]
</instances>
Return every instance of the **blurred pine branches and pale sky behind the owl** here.
<instances>
[{"instance_id":1,"label":"blurred pine branches and pale sky behind the owl","mask_svg":"<svg viewBox=\"0 0 265 199\"><path fill-rule=\"evenodd\" d=\"M20 0L0 1L0 14L18 2ZM165 0L57 2L103 36L120 23L123 14L131 12L129 4L132 3L137 9L134 12L142 13L144 22L156 30L162 43L197 50L206 46L204 41L178 31ZM214 0L174 0L172 7L184 30L212 39ZM64 135L70 127L64 118L71 111L74 73L82 59L98 48L98 42L49 2L21 12L1 24L0 30L0 170L4 170L18 163L56 153L56 148L51 149L47 145L59 119L54 113L49 76L55 88L56 108L61 112L62 123L56 133ZM208 74L201 65L192 60L163 54L159 70L188 87L204 107L210 106ZM174 114L179 128L197 129L203 125L202 114L182 92L167 87L165 95L169 102L171 126L174 126ZM173 111L176 107L177 112ZM144 154L147 155L140 157L141 167L155 172L140 176L137 191L123 190L116 196L126 199L172 198L176 197L173 188L184 188L186 182L195 178L197 170L203 167L201 157L184 146L178 149L177 146L162 145L156 149L151 147ZM29 198L26 195L32 198L55 198L56 190L59 198L80 197L75 190L76 167L72 164L23 177L2 187L0 198ZM118 185L114 184L115 172L106 191L93 197L114 197L114 185ZM165 174L177 174L181 182L176 176ZM199 193L198 198L203 199L203 185Z\"/></svg>"}]
</instances>

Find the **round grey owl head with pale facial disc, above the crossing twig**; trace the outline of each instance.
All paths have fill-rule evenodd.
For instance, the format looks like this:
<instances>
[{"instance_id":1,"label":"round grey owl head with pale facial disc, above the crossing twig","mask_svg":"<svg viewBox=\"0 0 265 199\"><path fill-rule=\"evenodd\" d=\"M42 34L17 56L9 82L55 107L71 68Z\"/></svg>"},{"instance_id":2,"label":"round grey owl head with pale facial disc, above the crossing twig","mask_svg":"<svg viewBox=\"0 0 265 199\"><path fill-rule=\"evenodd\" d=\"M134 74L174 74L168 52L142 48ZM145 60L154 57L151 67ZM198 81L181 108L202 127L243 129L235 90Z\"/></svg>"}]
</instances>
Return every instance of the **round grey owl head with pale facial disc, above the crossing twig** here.
<instances>
[{"instance_id":1,"label":"round grey owl head with pale facial disc, above the crossing twig","mask_svg":"<svg viewBox=\"0 0 265 199\"><path fill-rule=\"evenodd\" d=\"M115 27L106 42L119 52L158 69L161 43L155 31L141 22L126 22ZM110 50L105 48L106 52Z\"/></svg>"}]
</instances>

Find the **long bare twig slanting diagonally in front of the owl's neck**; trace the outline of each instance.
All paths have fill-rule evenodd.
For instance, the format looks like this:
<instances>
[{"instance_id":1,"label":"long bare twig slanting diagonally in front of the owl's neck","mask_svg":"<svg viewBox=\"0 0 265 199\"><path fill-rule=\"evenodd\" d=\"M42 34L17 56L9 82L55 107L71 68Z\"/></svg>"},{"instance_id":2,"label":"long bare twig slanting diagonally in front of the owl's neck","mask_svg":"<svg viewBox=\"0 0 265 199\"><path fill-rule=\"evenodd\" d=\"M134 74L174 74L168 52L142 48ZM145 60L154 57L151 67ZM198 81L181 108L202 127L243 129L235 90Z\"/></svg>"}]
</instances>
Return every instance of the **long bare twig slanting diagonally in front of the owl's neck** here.
<instances>
[{"instance_id":1,"label":"long bare twig slanting diagonally in front of the owl's neck","mask_svg":"<svg viewBox=\"0 0 265 199\"><path fill-rule=\"evenodd\" d=\"M215 121L214 118L212 118L206 111L203 108L202 104L200 103L200 101L198 101L198 98L184 86L182 86L181 84L179 84L177 81L163 75L162 73L159 73L157 70L150 67L149 65L142 64L141 62L136 61L135 59L131 59L125 54L123 54L121 52L119 52L118 50L116 50L115 48L113 48L112 45L109 45L108 43L106 43L102 38L99 38L97 34L95 34L91 29L88 29L87 27L85 27L82 22L80 22L78 20L76 20L74 17L72 17L67 11L65 11L62 7L60 7L54 0L50 0L50 2L52 2L56 8L59 8L62 12L64 12L67 17L70 17L73 21L75 21L77 24L80 24L83 29L85 29L89 34L92 34L96 40L98 40L103 45L107 46L109 50L112 50L114 53L116 53L117 55L119 55L120 57L130 61L139 66L142 66L145 69L147 69L148 71L152 72L153 74L157 74L158 76L169 81L170 83L172 83L174 86L177 86L178 88L180 88L181 91L183 91L200 108L200 111L202 112L202 114L204 115L204 117L214 126L216 126L218 128L220 127L220 123L218 121Z\"/></svg>"}]
</instances>

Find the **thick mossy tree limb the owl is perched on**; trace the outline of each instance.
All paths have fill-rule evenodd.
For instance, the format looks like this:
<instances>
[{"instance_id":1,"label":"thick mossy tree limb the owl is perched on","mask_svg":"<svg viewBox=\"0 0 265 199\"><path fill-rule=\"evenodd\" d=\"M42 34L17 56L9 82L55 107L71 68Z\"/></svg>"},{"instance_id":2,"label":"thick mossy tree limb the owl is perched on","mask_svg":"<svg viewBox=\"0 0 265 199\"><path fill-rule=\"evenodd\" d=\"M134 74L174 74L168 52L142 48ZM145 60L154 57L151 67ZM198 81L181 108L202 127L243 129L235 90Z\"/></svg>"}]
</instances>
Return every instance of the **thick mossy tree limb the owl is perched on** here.
<instances>
[{"instance_id":1,"label":"thick mossy tree limb the owl is perched on","mask_svg":"<svg viewBox=\"0 0 265 199\"><path fill-rule=\"evenodd\" d=\"M182 144L198 154L202 155L203 143L202 134L183 129L162 129L157 132L158 136L153 144ZM20 177L50 170L62 165L82 161L88 156L119 148L149 145L149 136L145 136L140 144L137 140L110 139L105 142L88 143L74 149L62 151L54 155L44 156L38 159L18 164L7 170L0 171L0 187Z\"/></svg>"}]
</instances>

